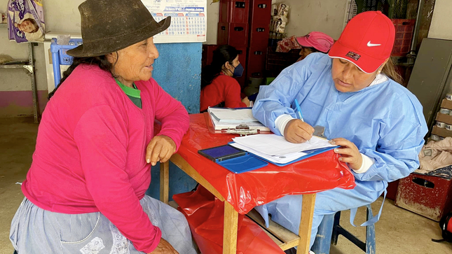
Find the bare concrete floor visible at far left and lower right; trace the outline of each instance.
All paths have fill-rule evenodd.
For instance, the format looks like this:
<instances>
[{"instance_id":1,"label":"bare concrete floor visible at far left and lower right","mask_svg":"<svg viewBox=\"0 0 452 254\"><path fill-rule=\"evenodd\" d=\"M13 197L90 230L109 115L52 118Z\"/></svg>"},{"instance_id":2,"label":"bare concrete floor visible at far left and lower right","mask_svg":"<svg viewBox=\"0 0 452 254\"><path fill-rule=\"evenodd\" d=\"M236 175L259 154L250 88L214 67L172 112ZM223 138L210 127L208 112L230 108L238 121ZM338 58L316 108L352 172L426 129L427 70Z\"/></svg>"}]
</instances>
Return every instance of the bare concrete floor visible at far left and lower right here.
<instances>
[{"instance_id":1,"label":"bare concrete floor visible at far left and lower right","mask_svg":"<svg viewBox=\"0 0 452 254\"><path fill-rule=\"evenodd\" d=\"M25 179L36 142L38 125L33 118L0 118L0 253L13 253L9 241L11 220L23 195L20 185ZM374 204L374 214L378 212L382 200ZM347 211L341 216L341 225L357 237L364 237L364 227L352 227ZM365 209L360 209L355 224L363 223ZM378 254L451 254L452 244L434 243L440 239L439 224L385 202L380 221L376 223L376 253ZM343 237L338 246L331 247L331 254L362 254L359 248ZM207 253L208 254L208 253Z\"/></svg>"}]
</instances>

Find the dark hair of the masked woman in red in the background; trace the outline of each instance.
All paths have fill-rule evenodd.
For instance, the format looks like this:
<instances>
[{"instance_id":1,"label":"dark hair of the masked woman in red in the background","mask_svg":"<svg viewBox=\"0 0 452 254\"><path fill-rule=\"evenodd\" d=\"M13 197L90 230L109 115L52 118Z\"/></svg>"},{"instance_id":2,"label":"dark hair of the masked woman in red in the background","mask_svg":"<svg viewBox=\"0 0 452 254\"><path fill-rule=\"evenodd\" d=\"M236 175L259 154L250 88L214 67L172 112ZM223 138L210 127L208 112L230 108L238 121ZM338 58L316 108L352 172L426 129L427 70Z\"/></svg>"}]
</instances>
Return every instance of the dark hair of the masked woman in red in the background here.
<instances>
[{"instance_id":1,"label":"dark hair of the masked woman in red in the background","mask_svg":"<svg viewBox=\"0 0 452 254\"><path fill-rule=\"evenodd\" d=\"M203 71L201 71L201 89L207 85L210 85L214 78L219 76L219 73L221 73L221 68L224 63L229 62L232 64L237 55L238 50L230 45L221 45L214 50L212 64L205 66Z\"/></svg>"}]
</instances>

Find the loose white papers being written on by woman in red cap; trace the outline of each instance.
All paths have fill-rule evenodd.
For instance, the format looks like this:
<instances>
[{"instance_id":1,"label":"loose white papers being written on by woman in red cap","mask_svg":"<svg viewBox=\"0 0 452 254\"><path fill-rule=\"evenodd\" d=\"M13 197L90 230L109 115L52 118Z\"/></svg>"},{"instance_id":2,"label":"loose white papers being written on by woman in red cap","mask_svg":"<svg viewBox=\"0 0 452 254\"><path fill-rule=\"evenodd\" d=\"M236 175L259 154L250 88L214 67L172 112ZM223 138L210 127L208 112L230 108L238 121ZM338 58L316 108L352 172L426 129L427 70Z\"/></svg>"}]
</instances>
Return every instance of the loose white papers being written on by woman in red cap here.
<instances>
[{"instance_id":1,"label":"loose white papers being written on by woman in red cap","mask_svg":"<svg viewBox=\"0 0 452 254\"><path fill-rule=\"evenodd\" d=\"M287 164L308 155L311 150L333 147L326 139L313 136L310 142L290 143L284 136L257 134L234 138L231 146L246 150L270 162Z\"/></svg>"}]
</instances>

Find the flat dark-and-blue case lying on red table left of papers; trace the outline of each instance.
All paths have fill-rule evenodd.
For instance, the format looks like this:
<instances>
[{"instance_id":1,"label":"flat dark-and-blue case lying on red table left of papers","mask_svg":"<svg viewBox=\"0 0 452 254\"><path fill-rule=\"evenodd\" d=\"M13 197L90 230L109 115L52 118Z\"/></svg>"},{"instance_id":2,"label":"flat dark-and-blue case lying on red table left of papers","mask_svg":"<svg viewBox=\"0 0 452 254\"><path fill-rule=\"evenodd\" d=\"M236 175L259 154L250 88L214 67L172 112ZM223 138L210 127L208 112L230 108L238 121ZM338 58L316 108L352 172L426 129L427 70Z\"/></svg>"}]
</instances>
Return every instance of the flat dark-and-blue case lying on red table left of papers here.
<instances>
[{"instance_id":1,"label":"flat dark-and-blue case lying on red table left of papers","mask_svg":"<svg viewBox=\"0 0 452 254\"><path fill-rule=\"evenodd\" d=\"M247 151L229 145L198 150L198 153L235 174L260 169L268 165L268 162Z\"/></svg>"}]
</instances>

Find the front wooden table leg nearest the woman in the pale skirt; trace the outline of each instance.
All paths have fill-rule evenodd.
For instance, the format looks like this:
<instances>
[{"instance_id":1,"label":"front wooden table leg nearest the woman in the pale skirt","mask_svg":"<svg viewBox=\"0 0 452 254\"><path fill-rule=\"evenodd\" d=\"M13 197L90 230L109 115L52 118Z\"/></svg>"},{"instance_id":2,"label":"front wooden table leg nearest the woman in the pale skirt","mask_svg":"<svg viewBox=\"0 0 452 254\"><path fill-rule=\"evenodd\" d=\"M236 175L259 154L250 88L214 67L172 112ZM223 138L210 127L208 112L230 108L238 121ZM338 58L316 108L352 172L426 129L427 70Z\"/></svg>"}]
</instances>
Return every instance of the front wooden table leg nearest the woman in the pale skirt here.
<instances>
[{"instance_id":1,"label":"front wooden table leg nearest the woman in the pale skirt","mask_svg":"<svg viewBox=\"0 0 452 254\"><path fill-rule=\"evenodd\" d=\"M228 202L224 202L223 254L237 252L238 212Z\"/></svg>"}]
</instances>

